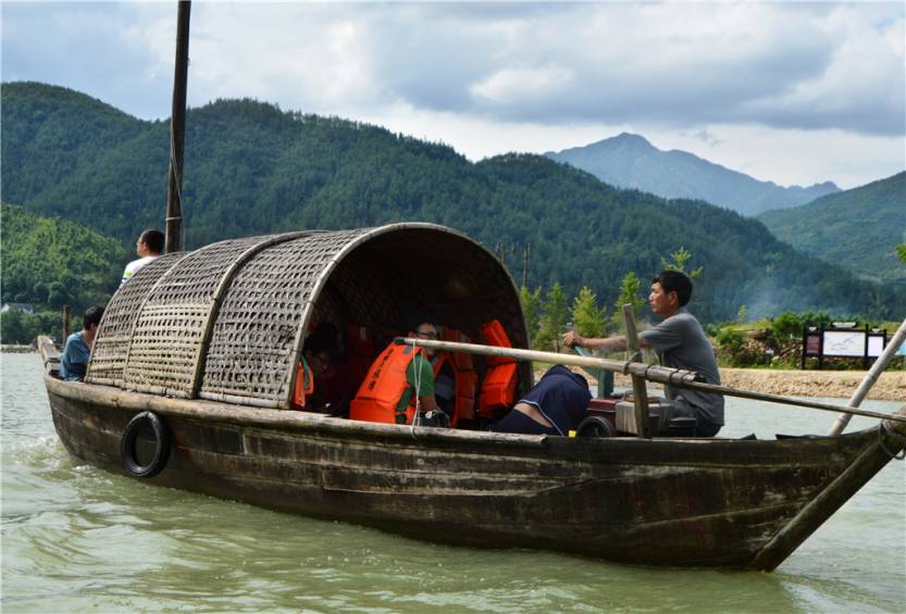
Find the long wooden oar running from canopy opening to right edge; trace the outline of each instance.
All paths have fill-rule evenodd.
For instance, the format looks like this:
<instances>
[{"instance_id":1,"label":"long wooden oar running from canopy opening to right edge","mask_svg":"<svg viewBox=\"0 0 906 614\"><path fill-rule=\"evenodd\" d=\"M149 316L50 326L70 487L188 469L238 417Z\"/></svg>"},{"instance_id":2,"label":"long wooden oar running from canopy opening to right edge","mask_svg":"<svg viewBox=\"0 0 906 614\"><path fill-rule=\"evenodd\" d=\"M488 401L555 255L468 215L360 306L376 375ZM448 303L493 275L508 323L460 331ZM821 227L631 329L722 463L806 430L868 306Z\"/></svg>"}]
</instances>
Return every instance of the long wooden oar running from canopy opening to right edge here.
<instances>
[{"instance_id":1,"label":"long wooden oar running from canopy opening to right edge","mask_svg":"<svg viewBox=\"0 0 906 614\"><path fill-rule=\"evenodd\" d=\"M756 401L769 401L772 403L783 403L785 405L796 405L799 408L822 410L826 412L854 414L857 416L866 416L878 419L890 419L893 422L902 422L906 424L906 417L904 416L884 414L881 412L872 412L869 410L860 410L858 408L832 405L830 403L820 403L817 401L791 399L789 397L781 397L779 394L752 392L748 390L730 388L729 386L718 386L716 384L706 384L702 381L702 377L695 372L683 371L679 368L669 368L666 366L648 365L645 363L637 363L631 361L623 362L610 359L558 354L555 352L539 352L537 350L520 350L517 348L481 346L479 343L430 341L427 339L413 339L409 337L397 337L395 341L397 343L406 343L407 346L419 346L422 348L446 350L449 352L463 352L467 354L477 354L483 356L504 356L516 359L518 361L538 361L570 366L581 366L585 368L603 368L605 371L622 373L623 375L644 377L649 381L655 381L658 384L670 384L671 386L677 386L678 388L690 388L692 390L700 390L703 392L709 392L712 394L740 397L742 399L753 399Z\"/></svg>"}]
</instances>

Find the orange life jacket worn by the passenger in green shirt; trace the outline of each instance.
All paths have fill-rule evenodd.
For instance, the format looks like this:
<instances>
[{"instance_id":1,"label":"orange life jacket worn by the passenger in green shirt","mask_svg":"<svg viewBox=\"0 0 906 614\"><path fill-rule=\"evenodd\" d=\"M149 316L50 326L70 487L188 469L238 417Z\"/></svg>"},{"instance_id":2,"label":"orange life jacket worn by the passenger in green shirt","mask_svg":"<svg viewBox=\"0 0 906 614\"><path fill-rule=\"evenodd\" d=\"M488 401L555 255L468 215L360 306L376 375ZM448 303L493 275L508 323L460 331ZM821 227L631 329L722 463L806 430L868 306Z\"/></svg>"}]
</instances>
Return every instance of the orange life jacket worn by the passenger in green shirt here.
<instances>
[{"instance_id":1,"label":"orange life jacket worn by the passenger in green shirt","mask_svg":"<svg viewBox=\"0 0 906 614\"><path fill-rule=\"evenodd\" d=\"M390 343L372 363L356 398L349 403L349 417L367 422L396 424L396 405L409 385L406 369L421 348ZM406 424L415 415L415 394L406 408Z\"/></svg>"}]
</instances>

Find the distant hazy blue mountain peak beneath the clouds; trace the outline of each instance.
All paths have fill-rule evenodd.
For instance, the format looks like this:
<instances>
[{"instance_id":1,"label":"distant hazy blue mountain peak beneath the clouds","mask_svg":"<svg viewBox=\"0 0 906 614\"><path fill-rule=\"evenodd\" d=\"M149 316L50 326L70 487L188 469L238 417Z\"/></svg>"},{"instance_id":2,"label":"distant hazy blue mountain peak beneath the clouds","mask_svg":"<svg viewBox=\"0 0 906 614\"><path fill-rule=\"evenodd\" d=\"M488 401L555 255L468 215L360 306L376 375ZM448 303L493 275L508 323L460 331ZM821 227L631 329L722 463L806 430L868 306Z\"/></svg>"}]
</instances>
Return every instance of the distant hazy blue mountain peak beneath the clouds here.
<instances>
[{"instance_id":1,"label":"distant hazy blue mountain peak beneath the clouds","mask_svg":"<svg viewBox=\"0 0 906 614\"><path fill-rule=\"evenodd\" d=\"M748 216L796 206L840 191L832 181L807 188L759 181L686 151L661 151L644 137L629 133L545 155L619 188L668 199L704 200Z\"/></svg>"}]
</instances>

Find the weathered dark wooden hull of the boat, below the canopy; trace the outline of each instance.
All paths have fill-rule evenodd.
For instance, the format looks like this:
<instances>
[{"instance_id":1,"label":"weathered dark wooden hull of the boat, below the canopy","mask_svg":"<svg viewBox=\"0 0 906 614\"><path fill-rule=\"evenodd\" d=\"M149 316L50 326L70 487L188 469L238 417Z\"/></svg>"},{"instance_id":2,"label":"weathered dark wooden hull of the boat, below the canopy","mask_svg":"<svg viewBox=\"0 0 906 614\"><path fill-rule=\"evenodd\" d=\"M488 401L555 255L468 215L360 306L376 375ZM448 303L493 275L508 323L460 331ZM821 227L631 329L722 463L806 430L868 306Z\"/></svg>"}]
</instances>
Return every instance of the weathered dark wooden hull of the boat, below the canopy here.
<instances>
[{"instance_id":1,"label":"weathered dark wooden hull of the boat, below the canopy","mask_svg":"<svg viewBox=\"0 0 906 614\"><path fill-rule=\"evenodd\" d=\"M752 565L878 438L877 429L782 441L413 431L46 384L66 448L112 471L123 472L127 422L158 413L174 446L154 484L434 541L654 565Z\"/></svg>"}]
</instances>

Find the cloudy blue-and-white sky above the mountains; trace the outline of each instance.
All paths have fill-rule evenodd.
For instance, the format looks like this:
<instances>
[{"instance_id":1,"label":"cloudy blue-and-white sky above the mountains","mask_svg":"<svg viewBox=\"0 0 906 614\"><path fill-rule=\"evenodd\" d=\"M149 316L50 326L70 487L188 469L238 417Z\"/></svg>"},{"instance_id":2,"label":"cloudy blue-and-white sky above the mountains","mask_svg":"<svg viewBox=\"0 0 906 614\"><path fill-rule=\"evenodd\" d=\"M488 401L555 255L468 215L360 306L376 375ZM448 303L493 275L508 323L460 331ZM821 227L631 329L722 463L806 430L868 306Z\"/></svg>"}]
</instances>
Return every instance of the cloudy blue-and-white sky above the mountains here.
<instances>
[{"instance_id":1,"label":"cloudy blue-and-white sky above the mountains","mask_svg":"<svg viewBox=\"0 0 906 614\"><path fill-rule=\"evenodd\" d=\"M170 115L175 2L0 11L4 82ZM905 24L903 2L195 2L188 99L369 122L472 160L631 131L852 188L906 168Z\"/></svg>"}]
</instances>

